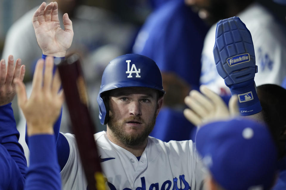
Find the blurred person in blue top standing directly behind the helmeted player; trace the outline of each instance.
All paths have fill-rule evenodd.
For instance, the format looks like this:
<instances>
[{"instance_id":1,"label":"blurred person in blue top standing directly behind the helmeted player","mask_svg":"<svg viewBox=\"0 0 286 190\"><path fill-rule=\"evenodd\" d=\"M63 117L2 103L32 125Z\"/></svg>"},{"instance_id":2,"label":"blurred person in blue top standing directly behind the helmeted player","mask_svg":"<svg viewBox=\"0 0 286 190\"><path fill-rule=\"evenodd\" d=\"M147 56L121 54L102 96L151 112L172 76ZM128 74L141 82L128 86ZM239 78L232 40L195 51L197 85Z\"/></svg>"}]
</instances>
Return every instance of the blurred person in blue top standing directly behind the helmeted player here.
<instances>
[{"instance_id":1,"label":"blurred person in blue top standing directly behind the helmeted player","mask_svg":"<svg viewBox=\"0 0 286 190\"><path fill-rule=\"evenodd\" d=\"M184 0L152 2L156 8L133 46L133 53L156 62L167 92L150 136L166 142L189 140L194 126L183 115L184 97L190 89L198 89L200 54L208 27Z\"/></svg>"}]
</instances>

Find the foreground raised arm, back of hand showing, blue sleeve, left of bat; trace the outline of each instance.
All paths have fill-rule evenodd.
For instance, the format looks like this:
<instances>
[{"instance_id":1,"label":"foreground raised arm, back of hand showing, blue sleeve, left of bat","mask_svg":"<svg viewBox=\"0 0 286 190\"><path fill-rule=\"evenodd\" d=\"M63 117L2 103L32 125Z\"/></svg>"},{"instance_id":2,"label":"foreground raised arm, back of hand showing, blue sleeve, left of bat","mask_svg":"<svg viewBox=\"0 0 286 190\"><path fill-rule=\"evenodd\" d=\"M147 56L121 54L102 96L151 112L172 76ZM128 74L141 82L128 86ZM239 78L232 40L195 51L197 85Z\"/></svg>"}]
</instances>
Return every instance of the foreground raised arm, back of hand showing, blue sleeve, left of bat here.
<instances>
[{"instance_id":1,"label":"foreground raised arm, back of hand showing, blue sleeve, left of bat","mask_svg":"<svg viewBox=\"0 0 286 190\"><path fill-rule=\"evenodd\" d=\"M53 125L63 104L63 91L60 90L58 73L53 77L53 58L48 57L45 63L38 61L32 82L32 93L29 99L25 85L15 80L18 105L27 120L29 136L30 166L27 171L25 189L60 189L60 167Z\"/></svg>"}]
</instances>

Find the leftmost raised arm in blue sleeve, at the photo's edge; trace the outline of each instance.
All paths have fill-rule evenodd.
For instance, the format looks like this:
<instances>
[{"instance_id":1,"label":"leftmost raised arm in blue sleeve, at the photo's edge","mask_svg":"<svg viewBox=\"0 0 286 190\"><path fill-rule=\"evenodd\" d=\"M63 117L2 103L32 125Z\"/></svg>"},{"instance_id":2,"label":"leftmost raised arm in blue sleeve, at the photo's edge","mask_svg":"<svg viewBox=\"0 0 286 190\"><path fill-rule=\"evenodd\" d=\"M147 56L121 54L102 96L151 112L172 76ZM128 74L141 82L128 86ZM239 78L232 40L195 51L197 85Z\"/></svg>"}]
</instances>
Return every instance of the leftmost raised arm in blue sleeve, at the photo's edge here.
<instances>
[{"instance_id":1,"label":"leftmost raised arm in blue sleeve, at the photo's edge","mask_svg":"<svg viewBox=\"0 0 286 190\"><path fill-rule=\"evenodd\" d=\"M16 89L13 80L23 80L25 66L21 65L21 59L17 59L14 66L12 55L8 57L7 68L5 60L0 61L0 139L1 144L7 149L11 158L18 165L25 178L27 161L24 150L18 142L20 134L16 128L11 102L15 97Z\"/></svg>"}]
</instances>

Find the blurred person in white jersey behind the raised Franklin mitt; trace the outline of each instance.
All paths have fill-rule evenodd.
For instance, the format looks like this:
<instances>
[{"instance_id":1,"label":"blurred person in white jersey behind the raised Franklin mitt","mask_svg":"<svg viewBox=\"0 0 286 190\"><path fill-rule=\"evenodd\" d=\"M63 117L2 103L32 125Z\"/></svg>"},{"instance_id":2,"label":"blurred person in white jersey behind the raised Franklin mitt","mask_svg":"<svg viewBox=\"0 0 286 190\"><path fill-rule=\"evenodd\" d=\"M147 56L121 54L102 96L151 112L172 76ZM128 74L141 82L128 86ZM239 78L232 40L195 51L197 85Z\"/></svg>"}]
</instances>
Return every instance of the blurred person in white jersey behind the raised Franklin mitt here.
<instances>
[{"instance_id":1,"label":"blurred person in white jersey behind the raised Franklin mitt","mask_svg":"<svg viewBox=\"0 0 286 190\"><path fill-rule=\"evenodd\" d=\"M237 16L252 35L258 66L256 85L266 83L281 85L286 75L286 36L285 28L272 12L253 0L187 0L186 2L192 5L207 23L213 24L204 40L201 55L201 84L207 85L228 101L230 91L215 69L213 47L216 22Z\"/></svg>"}]
</instances>

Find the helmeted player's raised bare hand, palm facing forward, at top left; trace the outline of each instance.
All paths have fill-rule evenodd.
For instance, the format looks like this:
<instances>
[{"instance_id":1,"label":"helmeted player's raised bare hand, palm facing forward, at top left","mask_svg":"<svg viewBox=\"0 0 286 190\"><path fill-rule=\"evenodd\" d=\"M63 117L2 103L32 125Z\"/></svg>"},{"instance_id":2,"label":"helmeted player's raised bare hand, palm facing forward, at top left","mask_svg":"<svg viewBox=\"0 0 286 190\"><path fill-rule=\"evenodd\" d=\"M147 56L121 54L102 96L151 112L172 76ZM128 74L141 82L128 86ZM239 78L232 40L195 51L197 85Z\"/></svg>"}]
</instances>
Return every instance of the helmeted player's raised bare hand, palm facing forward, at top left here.
<instances>
[{"instance_id":1,"label":"helmeted player's raised bare hand, palm facing forward, at top left","mask_svg":"<svg viewBox=\"0 0 286 190\"><path fill-rule=\"evenodd\" d=\"M44 55L64 57L66 50L71 46L74 32L67 13L63 15L65 30L60 28L57 2L46 6L43 2L35 11L32 23L35 29L38 45Z\"/></svg>"}]
</instances>

